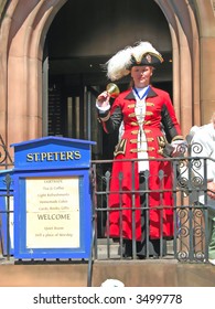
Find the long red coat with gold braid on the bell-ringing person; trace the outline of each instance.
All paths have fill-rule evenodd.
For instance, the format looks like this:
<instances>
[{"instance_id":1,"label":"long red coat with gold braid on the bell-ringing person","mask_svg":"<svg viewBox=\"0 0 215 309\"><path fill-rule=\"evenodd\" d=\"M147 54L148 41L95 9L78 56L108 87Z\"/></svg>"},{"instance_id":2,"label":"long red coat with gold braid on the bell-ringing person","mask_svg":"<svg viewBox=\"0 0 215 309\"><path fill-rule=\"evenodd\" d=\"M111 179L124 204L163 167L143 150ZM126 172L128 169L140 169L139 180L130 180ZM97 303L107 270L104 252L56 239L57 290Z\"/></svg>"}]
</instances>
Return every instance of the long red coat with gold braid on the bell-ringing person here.
<instances>
[{"instance_id":1,"label":"long red coat with gold braid on the bell-ringing person","mask_svg":"<svg viewBox=\"0 0 215 309\"><path fill-rule=\"evenodd\" d=\"M147 153L148 158L163 158L163 151L165 151L165 137L163 135L163 129L165 135L170 140L183 139L181 136L181 129L175 117L174 108L172 102L166 92L154 88L150 86L146 98L146 117L142 125L143 131L147 137ZM138 163L135 164L135 170L132 171L131 162L118 161L118 159L137 159L138 158L138 132L139 125L137 122L137 117L135 113L136 98L131 89L121 93L114 102L110 110L104 114L99 114L100 120L106 132L112 132L118 129L121 121L123 120L125 131L116 147L115 160L112 163L112 172L110 180L110 194L108 199L108 206L111 209L109 213L109 236L119 237L120 228L122 228L122 237L131 239L132 238L132 212L130 207L137 209L135 214L136 221L136 239L141 239L141 221L140 221L140 196L139 193L131 194L131 190L139 190L139 174L138 174ZM162 184L159 183L158 172L163 170L164 181ZM122 174L121 184L119 184L119 173ZM135 187L132 184L135 182ZM120 187L121 185L121 187ZM162 185L162 187L161 187ZM149 194L149 207L150 207L150 238L159 238L161 236L172 236L173 235L173 196L172 196L172 169L171 163L168 161L149 161L149 189L158 190L164 189L169 190L162 194L159 192L151 192ZM123 193L119 194L119 190ZM135 196L135 199L133 199ZM115 207L119 205L127 210L122 211L122 216L120 217L119 211L115 211ZM154 206L170 206L169 209L163 209L163 224L162 230L160 228L160 212L158 210L152 210ZM129 207L129 209L128 209Z\"/></svg>"}]
</instances>

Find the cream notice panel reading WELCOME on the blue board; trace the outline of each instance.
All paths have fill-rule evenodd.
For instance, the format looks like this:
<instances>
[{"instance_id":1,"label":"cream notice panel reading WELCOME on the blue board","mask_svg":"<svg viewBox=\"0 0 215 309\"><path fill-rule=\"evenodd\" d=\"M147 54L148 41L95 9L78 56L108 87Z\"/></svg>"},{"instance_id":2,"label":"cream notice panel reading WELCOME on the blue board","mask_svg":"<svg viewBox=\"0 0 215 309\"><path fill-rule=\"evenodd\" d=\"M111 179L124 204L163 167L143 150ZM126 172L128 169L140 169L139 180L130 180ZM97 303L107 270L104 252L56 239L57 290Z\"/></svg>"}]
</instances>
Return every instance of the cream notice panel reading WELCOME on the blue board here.
<instances>
[{"instance_id":1,"label":"cream notice panel reading WELCOME on the blue board","mask_svg":"<svg viewBox=\"0 0 215 309\"><path fill-rule=\"evenodd\" d=\"M26 248L79 247L78 177L26 178Z\"/></svg>"}]
</instances>

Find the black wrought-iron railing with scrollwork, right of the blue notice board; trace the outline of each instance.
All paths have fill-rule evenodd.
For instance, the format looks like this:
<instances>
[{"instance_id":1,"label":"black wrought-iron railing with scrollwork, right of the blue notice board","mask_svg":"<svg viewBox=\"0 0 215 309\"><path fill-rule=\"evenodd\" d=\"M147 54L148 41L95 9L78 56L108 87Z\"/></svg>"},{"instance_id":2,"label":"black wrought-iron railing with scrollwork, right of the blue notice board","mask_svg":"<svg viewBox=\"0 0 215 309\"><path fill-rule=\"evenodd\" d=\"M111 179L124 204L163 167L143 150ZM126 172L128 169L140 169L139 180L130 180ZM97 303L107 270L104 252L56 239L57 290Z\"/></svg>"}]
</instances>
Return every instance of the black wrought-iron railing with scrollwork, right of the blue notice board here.
<instances>
[{"instance_id":1,"label":"black wrought-iron railing with scrollwork, right of the blue notice board","mask_svg":"<svg viewBox=\"0 0 215 309\"><path fill-rule=\"evenodd\" d=\"M192 157L191 148L192 149ZM195 157L195 153L198 157ZM95 230L95 246L94 246L94 258L95 259L123 259L123 235L122 231L119 232L117 238L109 236L109 215L112 209L109 207L109 199L111 194L119 195L119 203L115 206L115 211L118 211L119 221L118 224L121 226L122 213L127 209L121 201L122 194L129 194L132 201L132 206L129 211L132 213L132 235L135 235L135 213L137 194L144 193L146 199L151 193L159 193L161 201L159 206L155 209L160 213L161 234L160 234L160 256L159 258L169 259L174 258L179 262L189 263L207 263L208 260L208 204L207 204L207 163L213 161L211 158L200 157L201 146L190 145L184 151L184 156L181 158L169 158L169 159L150 159L157 161L170 161L172 164L172 174L169 177L173 180L171 189L173 196L173 207L170 205L163 206L162 194L165 190L162 188L162 181L164 173L162 170L158 173L158 181L160 188L153 190L149 189L150 173L147 174L147 185L143 191L136 191L135 184L131 185L130 192L125 191L121 185L123 174L118 175L117 191L110 190L111 180L111 164L112 160L101 160L92 162L93 172L93 213L94 213L94 225ZM131 174L135 175L135 164L138 160L121 160L130 161ZM135 183L135 179L131 180ZM200 202L200 196L204 196L204 203ZM162 235L162 212L168 207L172 207L173 223L174 223L174 235L171 239L166 239ZM140 207L141 209L141 207ZM128 209L127 209L128 210ZM147 220L147 246L149 245L149 225L150 225L150 212L154 211L151 209L149 202L144 204L144 209L141 209L146 214ZM132 258L136 259L136 238L132 236ZM146 258L150 258L149 255Z\"/></svg>"}]
</instances>

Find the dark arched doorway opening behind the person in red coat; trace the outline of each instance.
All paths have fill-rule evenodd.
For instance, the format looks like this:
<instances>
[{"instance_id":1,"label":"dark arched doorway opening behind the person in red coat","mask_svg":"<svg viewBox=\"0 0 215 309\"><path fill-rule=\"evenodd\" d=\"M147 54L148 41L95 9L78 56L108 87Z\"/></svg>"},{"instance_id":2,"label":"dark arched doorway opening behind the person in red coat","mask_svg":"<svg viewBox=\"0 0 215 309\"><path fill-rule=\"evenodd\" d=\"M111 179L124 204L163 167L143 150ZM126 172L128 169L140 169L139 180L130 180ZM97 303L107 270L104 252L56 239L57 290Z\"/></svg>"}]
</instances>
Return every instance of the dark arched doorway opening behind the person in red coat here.
<instances>
[{"instance_id":1,"label":"dark arched doorway opening behind the person in red coat","mask_svg":"<svg viewBox=\"0 0 215 309\"><path fill-rule=\"evenodd\" d=\"M166 19L154 1L105 0L105 13L98 10L99 6L99 0L80 1L76 6L67 1L50 26L45 57L49 121L43 134L96 140L93 158L109 159L117 134L104 135L97 121L96 96L108 83L100 64L126 45L150 41L164 57L153 83L172 95L172 45ZM122 90L129 79L117 84Z\"/></svg>"}]
</instances>

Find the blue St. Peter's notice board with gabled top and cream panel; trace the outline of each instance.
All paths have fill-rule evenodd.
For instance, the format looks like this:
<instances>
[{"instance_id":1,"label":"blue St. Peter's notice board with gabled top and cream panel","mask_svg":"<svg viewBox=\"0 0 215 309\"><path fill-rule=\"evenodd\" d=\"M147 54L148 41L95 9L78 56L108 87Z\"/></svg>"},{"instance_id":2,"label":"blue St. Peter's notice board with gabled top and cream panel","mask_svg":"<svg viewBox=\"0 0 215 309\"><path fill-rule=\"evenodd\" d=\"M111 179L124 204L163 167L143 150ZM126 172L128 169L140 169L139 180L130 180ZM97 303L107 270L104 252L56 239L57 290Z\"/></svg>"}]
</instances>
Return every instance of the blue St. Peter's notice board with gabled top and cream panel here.
<instances>
[{"instance_id":1,"label":"blue St. Peter's notice board with gabled top and cream panel","mask_svg":"<svg viewBox=\"0 0 215 309\"><path fill-rule=\"evenodd\" d=\"M90 147L58 137L14 147L14 257L88 258Z\"/></svg>"}]
</instances>

